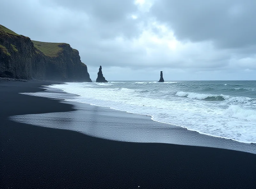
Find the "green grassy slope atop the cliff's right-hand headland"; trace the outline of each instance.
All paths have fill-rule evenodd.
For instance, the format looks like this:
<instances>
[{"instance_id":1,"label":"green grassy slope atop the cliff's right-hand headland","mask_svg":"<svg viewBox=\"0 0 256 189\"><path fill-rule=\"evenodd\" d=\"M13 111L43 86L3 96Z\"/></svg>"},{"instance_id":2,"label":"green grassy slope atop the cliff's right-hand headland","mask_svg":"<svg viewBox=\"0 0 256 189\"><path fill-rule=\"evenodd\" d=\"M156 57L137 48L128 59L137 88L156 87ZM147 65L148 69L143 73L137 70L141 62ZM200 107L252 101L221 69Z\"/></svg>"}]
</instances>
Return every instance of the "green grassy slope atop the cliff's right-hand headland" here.
<instances>
[{"instance_id":1,"label":"green grassy slope atop the cliff's right-hand headland","mask_svg":"<svg viewBox=\"0 0 256 189\"><path fill-rule=\"evenodd\" d=\"M36 49L42 51L44 55L49 57L58 57L59 52L62 50L60 45L65 45L66 43L48 43L48 42L38 42L32 41Z\"/></svg>"}]
</instances>

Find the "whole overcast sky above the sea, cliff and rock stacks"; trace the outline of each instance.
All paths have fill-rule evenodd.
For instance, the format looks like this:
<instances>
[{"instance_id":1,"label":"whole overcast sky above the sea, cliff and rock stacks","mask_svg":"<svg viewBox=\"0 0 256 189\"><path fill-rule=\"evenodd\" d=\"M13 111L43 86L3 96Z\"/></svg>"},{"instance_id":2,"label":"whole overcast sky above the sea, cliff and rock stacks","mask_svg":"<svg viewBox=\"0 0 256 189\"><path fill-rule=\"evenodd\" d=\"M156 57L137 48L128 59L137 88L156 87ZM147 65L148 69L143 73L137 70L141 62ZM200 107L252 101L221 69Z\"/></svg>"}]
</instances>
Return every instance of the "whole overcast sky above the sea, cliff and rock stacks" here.
<instances>
[{"instance_id":1,"label":"whole overcast sky above the sea, cliff and rock stacks","mask_svg":"<svg viewBox=\"0 0 256 189\"><path fill-rule=\"evenodd\" d=\"M96 80L255 80L255 0L1 0L0 24L77 49Z\"/></svg>"}]
</instances>

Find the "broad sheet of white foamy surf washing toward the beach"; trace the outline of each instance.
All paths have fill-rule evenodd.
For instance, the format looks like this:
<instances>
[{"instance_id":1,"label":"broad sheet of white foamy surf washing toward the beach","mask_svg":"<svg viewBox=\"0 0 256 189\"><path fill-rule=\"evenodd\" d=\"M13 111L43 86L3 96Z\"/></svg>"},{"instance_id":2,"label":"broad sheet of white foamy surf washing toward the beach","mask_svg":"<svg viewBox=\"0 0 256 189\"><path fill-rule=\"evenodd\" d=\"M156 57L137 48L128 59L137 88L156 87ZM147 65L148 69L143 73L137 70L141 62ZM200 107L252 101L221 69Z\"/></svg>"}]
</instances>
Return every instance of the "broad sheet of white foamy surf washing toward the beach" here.
<instances>
[{"instance_id":1,"label":"broad sheet of white foamy surf washing toward the beach","mask_svg":"<svg viewBox=\"0 0 256 189\"><path fill-rule=\"evenodd\" d=\"M134 82L125 84L125 86L128 85L134 88ZM138 85L136 89L115 88L113 85L111 88L97 86L95 83L67 83L49 87L80 95L69 98L68 101L150 115L155 121L185 127L199 133L245 143L256 143L256 112L250 109L251 104L256 102L255 99L182 91L176 93L173 91L172 96L169 89L165 92L157 90L157 93L141 93L143 90L153 91L153 85L148 85L149 88L146 89L144 85L141 85L143 88ZM164 98L163 94L170 95ZM188 98L180 98L180 96ZM208 97L221 97L224 100L214 102L202 100Z\"/></svg>"}]
</instances>

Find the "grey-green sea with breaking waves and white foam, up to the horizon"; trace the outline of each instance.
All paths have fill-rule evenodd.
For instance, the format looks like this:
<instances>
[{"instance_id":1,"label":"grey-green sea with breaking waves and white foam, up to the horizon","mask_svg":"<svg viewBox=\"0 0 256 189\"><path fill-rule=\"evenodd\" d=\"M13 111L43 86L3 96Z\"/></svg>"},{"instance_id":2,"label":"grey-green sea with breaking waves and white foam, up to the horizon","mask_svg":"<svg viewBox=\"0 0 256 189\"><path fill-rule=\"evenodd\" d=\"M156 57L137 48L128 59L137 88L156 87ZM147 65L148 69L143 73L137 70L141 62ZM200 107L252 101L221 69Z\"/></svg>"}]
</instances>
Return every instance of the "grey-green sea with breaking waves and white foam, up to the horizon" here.
<instances>
[{"instance_id":1,"label":"grey-green sea with breaking waves and white foam, up to the horizon","mask_svg":"<svg viewBox=\"0 0 256 189\"><path fill-rule=\"evenodd\" d=\"M68 101L148 115L201 134L256 143L256 81L65 83L47 86L48 97L49 87L75 94L59 97Z\"/></svg>"}]
</instances>

